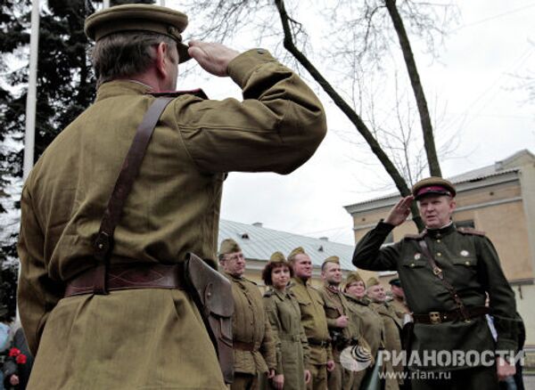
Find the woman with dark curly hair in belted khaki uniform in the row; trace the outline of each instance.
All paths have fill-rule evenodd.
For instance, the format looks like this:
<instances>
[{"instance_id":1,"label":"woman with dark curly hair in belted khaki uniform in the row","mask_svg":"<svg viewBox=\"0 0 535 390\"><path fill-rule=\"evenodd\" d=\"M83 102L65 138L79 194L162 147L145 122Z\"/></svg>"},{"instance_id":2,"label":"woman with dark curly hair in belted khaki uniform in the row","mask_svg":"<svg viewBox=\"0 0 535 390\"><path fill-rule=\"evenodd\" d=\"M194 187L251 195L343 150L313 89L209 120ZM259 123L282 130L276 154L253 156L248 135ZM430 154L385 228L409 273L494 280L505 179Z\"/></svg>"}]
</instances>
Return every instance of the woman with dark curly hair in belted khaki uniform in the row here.
<instances>
[{"instance_id":1,"label":"woman with dark curly hair in belted khaki uniform in the row","mask_svg":"<svg viewBox=\"0 0 535 390\"><path fill-rule=\"evenodd\" d=\"M269 388L305 390L310 381L309 342L300 321L297 299L288 289L293 270L281 252L269 258L262 280L269 286L264 305L276 341L276 375Z\"/></svg>"}]
</instances>

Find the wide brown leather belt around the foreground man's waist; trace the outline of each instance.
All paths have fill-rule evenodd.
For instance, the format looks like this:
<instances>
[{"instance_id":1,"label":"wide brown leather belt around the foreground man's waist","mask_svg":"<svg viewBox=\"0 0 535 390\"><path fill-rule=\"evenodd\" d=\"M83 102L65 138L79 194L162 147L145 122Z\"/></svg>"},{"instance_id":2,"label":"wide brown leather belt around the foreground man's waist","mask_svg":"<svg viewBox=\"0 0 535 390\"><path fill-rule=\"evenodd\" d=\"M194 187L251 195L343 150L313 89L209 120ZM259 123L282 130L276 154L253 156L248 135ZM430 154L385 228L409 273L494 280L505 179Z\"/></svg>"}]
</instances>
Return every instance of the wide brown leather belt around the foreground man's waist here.
<instances>
[{"instance_id":1,"label":"wide brown leather belt around the foreground man's waist","mask_svg":"<svg viewBox=\"0 0 535 390\"><path fill-rule=\"evenodd\" d=\"M111 264L106 275L109 290L136 288L185 289L182 264ZM67 282L65 297L93 294L95 268Z\"/></svg>"}]
</instances>

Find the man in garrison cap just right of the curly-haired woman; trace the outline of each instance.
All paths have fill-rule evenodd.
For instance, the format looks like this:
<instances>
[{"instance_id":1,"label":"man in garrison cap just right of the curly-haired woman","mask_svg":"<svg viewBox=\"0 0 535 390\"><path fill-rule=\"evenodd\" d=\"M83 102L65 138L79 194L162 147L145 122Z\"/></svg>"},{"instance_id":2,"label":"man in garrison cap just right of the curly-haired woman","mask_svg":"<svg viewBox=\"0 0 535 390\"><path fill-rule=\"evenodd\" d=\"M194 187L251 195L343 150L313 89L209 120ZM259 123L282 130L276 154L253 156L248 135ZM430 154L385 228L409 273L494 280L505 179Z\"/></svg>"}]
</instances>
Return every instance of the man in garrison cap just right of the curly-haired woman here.
<instances>
[{"instance_id":1,"label":"man in garrison cap just right of the curly-haired woman","mask_svg":"<svg viewBox=\"0 0 535 390\"><path fill-rule=\"evenodd\" d=\"M301 324L309 342L310 355L306 369L310 371L309 390L327 389L327 372L334 370L331 337L325 317L324 302L316 288L310 285L312 261L302 247L288 255L292 265L292 293L300 306Z\"/></svg>"}]
</instances>

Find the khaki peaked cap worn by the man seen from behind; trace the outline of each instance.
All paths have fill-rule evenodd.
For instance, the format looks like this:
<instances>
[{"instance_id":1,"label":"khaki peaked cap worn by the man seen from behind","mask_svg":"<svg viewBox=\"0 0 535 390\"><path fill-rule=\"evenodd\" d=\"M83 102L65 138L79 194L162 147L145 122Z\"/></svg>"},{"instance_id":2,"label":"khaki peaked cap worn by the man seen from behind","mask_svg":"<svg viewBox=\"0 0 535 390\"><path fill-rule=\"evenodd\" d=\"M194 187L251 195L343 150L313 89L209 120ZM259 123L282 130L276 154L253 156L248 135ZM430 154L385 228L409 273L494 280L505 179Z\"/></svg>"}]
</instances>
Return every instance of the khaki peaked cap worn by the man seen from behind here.
<instances>
[{"instance_id":1,"label":"khaki peaked cap worn by the man seen from behind","mask_svg":"<svg viewBox=\"0 0 535 390\"><path fill-rule=\"evenodd\" d=\"M126 31L148 31L173 38L177 42L178 61L188 61L187 45L181 33L187 26L185 13L153 4L122 4L95 12L86 18L84 31L98 41L110 34Z\"/></svg>"}]
</instances>

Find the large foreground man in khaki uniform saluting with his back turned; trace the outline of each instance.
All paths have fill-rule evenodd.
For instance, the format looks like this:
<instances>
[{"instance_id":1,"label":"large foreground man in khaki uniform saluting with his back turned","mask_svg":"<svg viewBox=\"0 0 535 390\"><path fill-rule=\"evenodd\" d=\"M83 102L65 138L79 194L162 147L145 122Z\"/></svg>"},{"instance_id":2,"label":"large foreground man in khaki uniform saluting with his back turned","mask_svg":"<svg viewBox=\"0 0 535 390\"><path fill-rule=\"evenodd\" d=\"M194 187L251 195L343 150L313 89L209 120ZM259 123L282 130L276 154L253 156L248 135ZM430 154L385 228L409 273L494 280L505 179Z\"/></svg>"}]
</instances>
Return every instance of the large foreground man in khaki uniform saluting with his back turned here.
<instances>
[{"instance_id":1,"label":"large foreground man in khaki uniform saluting with his back turned","mask_svg":"<svg viewBox=\"0 0 535 390\"><path fill-rule=\"evenodd\" d=\"M226 173L291 173L324 138L325 112L306 83L267 50L186 45L187 23L184 13L152 4L118 5L86 19L86 35L95 40L96 100L48 146L21 196L18 302L36 354L29 387L225 388L185 289L148 288L178 285L184 272L156 281L151 275L181 270L189 252L215 267ZM190 57L211 75L231 77L246 100L172 92L178 64ZM94 256L94 242L103 237L99 224L136 129L162 95L169 102L158 100L168 105L151 116L160 119L113 245L102 247L111 249L105 267ZM135 286L100 295L100 280L120 267L144 283L131 280ZM97 295L71 297L83 276L83 286ZM120 347L111 341L119 337Z\"/></svg>"}]
</instances>

